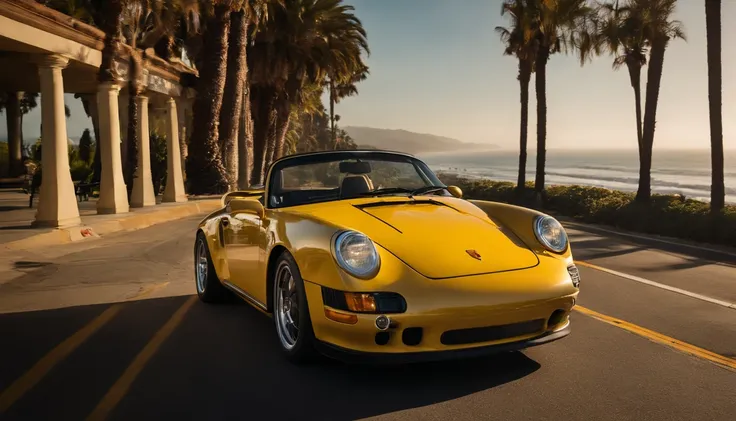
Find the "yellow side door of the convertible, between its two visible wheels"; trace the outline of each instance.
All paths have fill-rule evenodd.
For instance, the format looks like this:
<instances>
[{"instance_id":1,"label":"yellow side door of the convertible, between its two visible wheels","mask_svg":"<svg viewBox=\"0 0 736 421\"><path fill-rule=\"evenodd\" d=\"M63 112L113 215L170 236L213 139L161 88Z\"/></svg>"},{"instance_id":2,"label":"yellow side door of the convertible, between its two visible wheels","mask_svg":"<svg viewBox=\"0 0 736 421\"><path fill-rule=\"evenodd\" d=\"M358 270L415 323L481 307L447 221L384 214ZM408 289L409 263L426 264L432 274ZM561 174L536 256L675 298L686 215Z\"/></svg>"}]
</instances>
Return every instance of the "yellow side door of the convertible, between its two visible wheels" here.
<instances>
[{"instance_id":1,"label":"yellow side door of the convertible, between its two visible wheels","mask_svg":"<svg viewBox=\"0 0 736 421\"><path fill-rule=\"evenodd\" d=\"M261 217L255 213L231 211L223 216L221 221L224 228L225 254L230 271L228 281L246 298L265 305L261 297L264 279L261 268L264 262L262 256L264 236Z\"/></svg>"}]
</instances>

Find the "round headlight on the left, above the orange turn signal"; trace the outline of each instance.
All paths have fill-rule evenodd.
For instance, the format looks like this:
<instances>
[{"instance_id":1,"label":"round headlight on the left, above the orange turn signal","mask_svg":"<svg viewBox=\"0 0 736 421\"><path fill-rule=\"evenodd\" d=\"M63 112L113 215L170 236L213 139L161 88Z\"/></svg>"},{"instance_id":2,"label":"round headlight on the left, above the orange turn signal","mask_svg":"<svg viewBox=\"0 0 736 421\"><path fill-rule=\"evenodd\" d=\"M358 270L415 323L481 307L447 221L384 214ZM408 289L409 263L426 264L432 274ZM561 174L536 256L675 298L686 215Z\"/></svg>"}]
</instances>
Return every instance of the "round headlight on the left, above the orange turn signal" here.
<instances>
[{"instance_id":1,"label":"round headlight on the left, above the orange turn signal","mask_svg":"<svg viewBox=\"0 0 736 421\"><path fill-rule=\"evenodd\" d=\"M357 278L372 278L381 265L373 241L359 232L340 233L335 238L334 252L340 267Z\"/></svg>"}]
</instances>

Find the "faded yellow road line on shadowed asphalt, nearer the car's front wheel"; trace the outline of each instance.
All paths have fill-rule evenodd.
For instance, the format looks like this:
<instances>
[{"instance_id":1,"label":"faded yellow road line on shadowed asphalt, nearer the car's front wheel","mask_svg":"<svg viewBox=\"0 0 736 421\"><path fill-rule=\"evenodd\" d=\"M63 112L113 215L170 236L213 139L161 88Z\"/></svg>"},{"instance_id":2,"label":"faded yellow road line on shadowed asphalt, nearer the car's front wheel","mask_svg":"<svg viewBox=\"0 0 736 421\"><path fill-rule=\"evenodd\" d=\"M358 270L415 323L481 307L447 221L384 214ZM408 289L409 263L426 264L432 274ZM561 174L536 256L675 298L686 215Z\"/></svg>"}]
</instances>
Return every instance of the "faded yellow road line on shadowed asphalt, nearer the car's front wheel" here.
<instances>
[{"instance_id":1,"label":"faded yellow road line on shadowed asphalt, nearer the car's front wheel","mask_svg":"<svg viewBox=\"0 0 736 421\"><path fill-rule=\"evenodd\" d=\"M158 351L161 345L166 339L174 332L179 326L181 321L184 319L187 311L192 307L194 302L197 300L196 296L191 296L187 299L184 304L179 307L178 310L171 316L171 318L164 324L161 329L153 335L153 338L146 344L141 352L136 355L132 363L125 369L123 375L115 382L114 385L107 391L107 394L102 398L97 407L87 417L88 421L104 420L117 406L123 397L128 393L130 386L135 381L138 374L143 370L148 360Z\"/></svg>"}]
</instances>

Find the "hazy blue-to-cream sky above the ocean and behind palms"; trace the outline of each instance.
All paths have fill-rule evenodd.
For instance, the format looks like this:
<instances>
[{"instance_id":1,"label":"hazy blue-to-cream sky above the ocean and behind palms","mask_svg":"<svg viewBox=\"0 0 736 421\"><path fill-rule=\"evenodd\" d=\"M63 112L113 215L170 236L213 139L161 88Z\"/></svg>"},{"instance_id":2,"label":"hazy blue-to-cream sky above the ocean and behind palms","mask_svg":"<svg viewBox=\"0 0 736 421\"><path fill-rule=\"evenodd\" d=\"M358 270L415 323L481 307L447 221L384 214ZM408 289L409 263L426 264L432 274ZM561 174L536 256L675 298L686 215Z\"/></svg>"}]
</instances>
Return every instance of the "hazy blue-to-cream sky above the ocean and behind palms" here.
<instances>
[{"instance_id":1,"label":"hazy blue-to-cream sky above the ocean and behind palms","mask_svg":"<svg viewBox=\"0 0 736 421\"><path fill-rule=\"evenodd\" d=\"M368 32L370 76L359 95L336 107L342 126L405 129L513 149L519 138L517 62L503 55L494 31L507 21L501 0L345 0ZM710 145L705 9L679 0L674 16L687 41L665 54L655 149ZM736 1L723 2L724 145L736 149ZM625 69L601 56L581 67L574 55L551 58L547 70L548 148L636 148L634 94ZM642 72L642 95L646 68ZM79 100L66 96L69 137L91 122ZM644 106L642 101L642 107ZM536 139L534 80L529 144ZM4 119L3 119L4 120ZM25 141L39 135L40 109L25 116ZM0 123L0 139L5 138Z\"/></svg>"}]
</instances>

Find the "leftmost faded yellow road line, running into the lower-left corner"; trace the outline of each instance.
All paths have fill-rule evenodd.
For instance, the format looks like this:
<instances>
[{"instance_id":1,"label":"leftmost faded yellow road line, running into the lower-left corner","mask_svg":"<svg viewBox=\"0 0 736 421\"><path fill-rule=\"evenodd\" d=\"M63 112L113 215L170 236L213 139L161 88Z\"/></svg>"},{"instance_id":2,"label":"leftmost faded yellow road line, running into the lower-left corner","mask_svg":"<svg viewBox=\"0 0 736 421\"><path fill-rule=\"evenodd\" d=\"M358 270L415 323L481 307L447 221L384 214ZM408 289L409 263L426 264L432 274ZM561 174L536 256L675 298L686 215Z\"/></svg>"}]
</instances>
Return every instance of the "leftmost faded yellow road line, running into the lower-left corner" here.
<instances>
[{"instance_id":1,"label":"leftmost faded yellow road line, running into the lower-left corner","mask_svg":"<svg viewBox=\"0 0 736 421\"><path fill-rule=\"evenodd\" d=\"M122 304L113 304L105 311L89 322L86 326L79 329L72 336L66 338L64 342L57 345L54 349L43 356L30 370L23 376L18 378L13 384L0 394L0 414L10 408L13 403L23 397L23 395L33 388L43 377L48 374L56 364L61 362L84 341L92 336L97 330L109 322L122 309Z\"/></svg>"}]
</instances>

